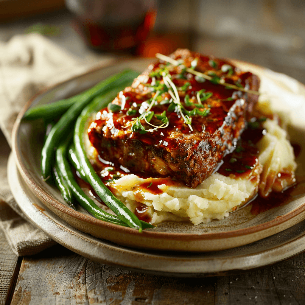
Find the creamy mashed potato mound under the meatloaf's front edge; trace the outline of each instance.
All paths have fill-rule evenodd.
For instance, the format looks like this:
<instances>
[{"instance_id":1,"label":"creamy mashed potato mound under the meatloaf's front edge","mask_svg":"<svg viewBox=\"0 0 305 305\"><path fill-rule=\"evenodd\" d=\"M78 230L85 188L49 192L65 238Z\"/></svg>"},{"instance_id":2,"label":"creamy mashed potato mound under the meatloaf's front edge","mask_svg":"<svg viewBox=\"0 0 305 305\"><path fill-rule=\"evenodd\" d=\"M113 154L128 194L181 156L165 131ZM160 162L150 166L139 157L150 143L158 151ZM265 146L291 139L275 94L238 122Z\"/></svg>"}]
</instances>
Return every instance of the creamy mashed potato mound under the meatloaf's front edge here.
<instances>
[{"instance_id":1,"label":"creamy mashed potato mound under the meatloaf's front edge","mask_svg":"<svg viewBox=\"0 0 305 305\"><path fill-rule=\"evenodd\" d=\"M138 205L137 202L149 206L147 213L153 224L165 220L189 219L196 225L211 219L224 219L232 208L252 198L257 190L257 184L247 179L232 179L218 173L194 189L182 184L171 186L163 183L157 185L163 191L159 195L149 192L149 188L134 188L146 180L153 181L130 174L115 180L113 188L114 194L132 211Z\"/></svg>"}]
</instances>

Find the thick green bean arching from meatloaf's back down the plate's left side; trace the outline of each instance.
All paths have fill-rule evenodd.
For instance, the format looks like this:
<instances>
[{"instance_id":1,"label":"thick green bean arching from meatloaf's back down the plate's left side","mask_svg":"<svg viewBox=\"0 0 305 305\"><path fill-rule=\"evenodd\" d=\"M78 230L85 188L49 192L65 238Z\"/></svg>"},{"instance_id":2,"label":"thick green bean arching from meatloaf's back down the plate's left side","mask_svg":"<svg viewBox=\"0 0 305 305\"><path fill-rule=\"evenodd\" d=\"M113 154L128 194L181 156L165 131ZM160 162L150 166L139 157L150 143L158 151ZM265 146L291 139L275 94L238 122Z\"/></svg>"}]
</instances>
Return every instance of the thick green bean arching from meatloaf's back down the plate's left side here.
<instances>
[{"instance_id":1,"label":"thick green bean arching from meatloaf's back down the plate's left side","mask_svg":"<svg viewBox=\"0 0 305 305\"><path fill-rule=\"evenodd\" d=\"M135 71L126 70L112 77L108 77L106 80L99 84L99 89L96 90L95 87L86 91L81 98L71 106L67 112L60 118L57 124L51 129L45 145L41 150L41 172L45 180L50 177L51 167L54 150L56 145L61 141L61 139L66 135L69 129L72 128L72 124L75 119L81 113L81 110L97 95L109 92L110 90L117 88L121 85L130 84L138 74Z\"/></svg>"}]
</instances>

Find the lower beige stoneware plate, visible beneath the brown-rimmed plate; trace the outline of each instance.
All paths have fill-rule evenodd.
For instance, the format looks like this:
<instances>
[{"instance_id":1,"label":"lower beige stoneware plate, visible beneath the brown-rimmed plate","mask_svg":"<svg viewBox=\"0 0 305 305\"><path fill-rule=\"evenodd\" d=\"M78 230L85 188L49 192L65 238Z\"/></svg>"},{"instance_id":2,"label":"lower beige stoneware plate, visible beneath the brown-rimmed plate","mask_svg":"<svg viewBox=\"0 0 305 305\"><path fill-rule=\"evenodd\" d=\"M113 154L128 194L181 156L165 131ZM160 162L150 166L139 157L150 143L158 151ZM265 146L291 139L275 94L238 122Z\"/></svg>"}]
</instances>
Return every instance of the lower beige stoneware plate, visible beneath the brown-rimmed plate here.
<instances>
[{"instance_id":1,"label":"lower beige stoneware plate, visible beneath the brown-rimmed plate","mask_svg":"<svg viewBox=\"0 0 305 305\"><path fill-rule=\"evenodd\" d=\"M22 179L13 154L7 169L17 203L36 226L66 248L103 264L167 276L202 277L239 274L288 259L305 249L305 220L249 245L216 252L177 253L116 245L75 229L49 210Z\"/></svg>"}]
</instances>

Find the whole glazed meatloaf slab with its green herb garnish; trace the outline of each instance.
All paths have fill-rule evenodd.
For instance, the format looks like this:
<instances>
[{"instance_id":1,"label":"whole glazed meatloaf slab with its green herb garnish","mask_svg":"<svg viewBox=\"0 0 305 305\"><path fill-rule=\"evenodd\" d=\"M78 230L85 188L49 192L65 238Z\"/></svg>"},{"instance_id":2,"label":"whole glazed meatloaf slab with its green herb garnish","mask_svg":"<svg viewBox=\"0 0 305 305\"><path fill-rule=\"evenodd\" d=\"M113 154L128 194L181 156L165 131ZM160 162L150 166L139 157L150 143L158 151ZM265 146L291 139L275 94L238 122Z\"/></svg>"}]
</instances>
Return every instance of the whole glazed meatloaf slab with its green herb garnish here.
<instances>
[{"instance_id":1,"label":"whole glazed meatloaf slab with its green herb garnish","mask_svg":"<svg viewBox=\"0 0 305 305\"><path fill-rule=\"evenodd\" d=\"M159 60L101 109L88 129L100 159L149 177L195 188L221 164L251 118L259 79L232 63L187 49ZM194 69L206 80L186 71Z\"/></svg>"}]
</instances>

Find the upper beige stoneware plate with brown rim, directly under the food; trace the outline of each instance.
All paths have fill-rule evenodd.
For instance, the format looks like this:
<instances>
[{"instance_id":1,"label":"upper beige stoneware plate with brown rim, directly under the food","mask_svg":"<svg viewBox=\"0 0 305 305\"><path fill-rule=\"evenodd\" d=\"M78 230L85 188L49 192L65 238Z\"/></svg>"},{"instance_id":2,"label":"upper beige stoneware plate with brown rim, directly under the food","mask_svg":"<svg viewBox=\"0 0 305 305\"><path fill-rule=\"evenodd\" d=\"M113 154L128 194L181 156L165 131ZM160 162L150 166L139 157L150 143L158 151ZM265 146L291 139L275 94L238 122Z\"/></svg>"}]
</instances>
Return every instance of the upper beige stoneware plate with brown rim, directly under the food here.
<instances>
[{"instance_id":1,"label":"upper beige stoneware plate with brown rim, directly under the food","mask_svg":"<svg viewBox=\"0 0 305 305\"><path fill-rule=\"evenodd\" d=\"M243 69L255 70L257 74L263 74L265 71L265 68L249 63L235 63L242 65ZM74 228L120 245L154 250L203 252L230 249L266 238L305 219L305 199L297 196L287 205L272 208L256 216L250 213L251 205L248 205L222 221L198 226L164 222L158 225L158 228L145 230L141 234L131 228L97 220L84 210L75 211L68 207L59 191L41 179L40 151L45 132L43 124L39 121L21 122L20 119L29 107L77 94L127 67L142 71L147 64L147 59L127 60L92 70L41 92L27 103L13 128L13 152L20 174L34 196ZM301 147L305 147L303 134L295 131L294 136ZM298 163L302 160L305 162L303 153L300 154Z\"/></svg>"}]
</instances>

